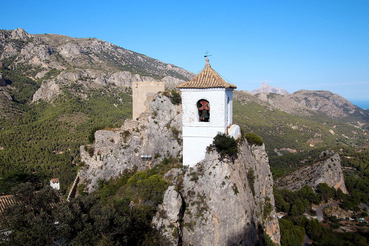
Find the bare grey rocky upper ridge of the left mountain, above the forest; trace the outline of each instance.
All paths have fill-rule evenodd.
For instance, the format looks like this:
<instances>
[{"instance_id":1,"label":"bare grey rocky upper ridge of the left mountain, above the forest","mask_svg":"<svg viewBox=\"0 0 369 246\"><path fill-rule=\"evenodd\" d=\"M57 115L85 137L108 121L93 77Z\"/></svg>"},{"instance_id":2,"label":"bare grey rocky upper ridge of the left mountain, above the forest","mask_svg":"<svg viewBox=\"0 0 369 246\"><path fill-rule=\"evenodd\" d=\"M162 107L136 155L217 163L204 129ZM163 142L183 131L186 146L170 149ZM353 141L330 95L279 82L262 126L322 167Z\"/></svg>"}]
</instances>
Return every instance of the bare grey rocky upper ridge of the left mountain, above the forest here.
<instances>
[{"instance_id":1,"label":"bare grey rocky upper ridge of the left mountain, above the forest","mask_svg":"<svg viewBox=\"0 0 369 246\"><path fill-rule=\"evenodd\" d=\"M37 92L27 99L33 101L51 101L59 94L65 94L62 89L72 83L85 88L109 83L129 87L136 81L162 80L170 89L195 75L101 39L57 34L31 35L21 28L0 30L0 61L3 69L38 83L35 85ZM9 80L7 76L5 83ZM2 91L10 95L19 92L4 89L2 80L1 84Z\"/></svg>"}]
</instances>

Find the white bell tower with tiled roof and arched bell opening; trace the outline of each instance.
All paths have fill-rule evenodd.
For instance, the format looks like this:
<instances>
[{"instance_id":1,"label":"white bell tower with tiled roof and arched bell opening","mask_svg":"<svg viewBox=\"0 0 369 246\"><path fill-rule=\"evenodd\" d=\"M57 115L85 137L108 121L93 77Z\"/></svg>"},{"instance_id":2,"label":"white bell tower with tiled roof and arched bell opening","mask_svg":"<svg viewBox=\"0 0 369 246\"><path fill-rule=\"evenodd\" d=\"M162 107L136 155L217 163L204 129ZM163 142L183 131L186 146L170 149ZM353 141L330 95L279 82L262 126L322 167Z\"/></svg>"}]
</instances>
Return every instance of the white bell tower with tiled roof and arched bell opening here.
<instances>
[{"instance_id":1,"label":"white bell tower with tiled roof and arched bell opening","mask_svg":"<svg viewBox=\"0 0 369 246\"><path fill-rule=\"evenodd\" d=\"M177 86L182 93L183 164L204 159L206 147L218 132L232 125L232 94L237 87L225 82L206 58L204 69Z\"/></svg>"}]
</instances>

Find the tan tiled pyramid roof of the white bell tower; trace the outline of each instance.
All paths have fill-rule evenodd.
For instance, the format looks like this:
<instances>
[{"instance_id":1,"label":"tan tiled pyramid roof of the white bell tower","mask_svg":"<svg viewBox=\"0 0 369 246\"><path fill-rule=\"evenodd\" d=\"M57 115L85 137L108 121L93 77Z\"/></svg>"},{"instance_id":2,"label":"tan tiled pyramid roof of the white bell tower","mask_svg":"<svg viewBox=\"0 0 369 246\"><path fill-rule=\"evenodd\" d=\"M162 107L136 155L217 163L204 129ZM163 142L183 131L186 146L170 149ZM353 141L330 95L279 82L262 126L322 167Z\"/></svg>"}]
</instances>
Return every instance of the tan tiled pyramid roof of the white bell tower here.
<instances>
[{"instance_id":1,"label":"tan tiled pyramid roof of the white bell tower","mask_svg":"<svg viewBox=\"0 0 369 246\"><path fill-rule=\"evenodd\" d=\"M215 72L209 64L209 59L206 59L205 68L193 79L177 85L177 88L214 88L214 87L224 87L224 88L234 88L237 86L227 83Z\"/></svg>"}]
</instances>

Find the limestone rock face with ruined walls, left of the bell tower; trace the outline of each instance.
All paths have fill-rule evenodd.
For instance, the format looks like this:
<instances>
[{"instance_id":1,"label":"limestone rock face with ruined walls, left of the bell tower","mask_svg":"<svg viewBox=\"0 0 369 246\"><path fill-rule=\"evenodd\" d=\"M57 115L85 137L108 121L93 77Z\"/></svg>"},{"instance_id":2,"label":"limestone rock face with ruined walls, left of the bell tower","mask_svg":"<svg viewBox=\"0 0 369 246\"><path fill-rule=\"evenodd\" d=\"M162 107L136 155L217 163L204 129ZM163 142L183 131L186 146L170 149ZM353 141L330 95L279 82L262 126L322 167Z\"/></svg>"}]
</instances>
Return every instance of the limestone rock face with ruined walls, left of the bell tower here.
<instances>
[{"instance_id":1,"label":"limestone rock face with ruined walls, left of the bell tower","mask_svg":"<svg viewBox=\"0 0 369 246\"><path fill-rule=\"evenodd\" d=\"M138 120L127 119L120 129L96 131L95 143L88 146L94 148L92 157L84 146L80 147L81 159L88 168L80 170L78 176L88 182L89 191L96 188L97 180L118 176L134 165L143 170L164 157L182 155L182 109L162 94L147 96L147 110ZM141 155L151 155L152 159L143 161Z\"/></svg>"}]
</instances>

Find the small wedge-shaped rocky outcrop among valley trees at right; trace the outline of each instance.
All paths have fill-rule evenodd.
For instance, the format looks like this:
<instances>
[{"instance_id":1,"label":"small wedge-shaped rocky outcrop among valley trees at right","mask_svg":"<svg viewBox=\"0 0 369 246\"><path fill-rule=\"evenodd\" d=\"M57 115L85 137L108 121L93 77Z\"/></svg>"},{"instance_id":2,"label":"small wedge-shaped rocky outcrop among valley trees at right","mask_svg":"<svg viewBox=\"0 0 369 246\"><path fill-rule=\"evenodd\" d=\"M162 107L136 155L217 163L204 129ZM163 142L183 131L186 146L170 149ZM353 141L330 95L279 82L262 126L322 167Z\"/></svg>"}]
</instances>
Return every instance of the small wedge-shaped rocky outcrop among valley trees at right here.
<instances>
[{"instance_id":1,"label":"small wedge-shaped rocky outcrop among valley trees at right","mask_svg":"<svg viewBox=\"0 0 369 246\"><path fill-rule=\"evenodd\" d=\"M322 152L319 158L317 163L305 166L290 175L277 179L275 181L277 188L300 190L305 185L308 185L316 189L318 184L327 183L328 186L335 189L340 188L343 193L348 194L338 153L327 150Z\"/></svg>"}]
</instances>

